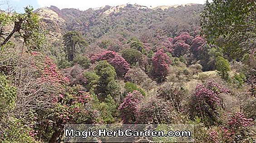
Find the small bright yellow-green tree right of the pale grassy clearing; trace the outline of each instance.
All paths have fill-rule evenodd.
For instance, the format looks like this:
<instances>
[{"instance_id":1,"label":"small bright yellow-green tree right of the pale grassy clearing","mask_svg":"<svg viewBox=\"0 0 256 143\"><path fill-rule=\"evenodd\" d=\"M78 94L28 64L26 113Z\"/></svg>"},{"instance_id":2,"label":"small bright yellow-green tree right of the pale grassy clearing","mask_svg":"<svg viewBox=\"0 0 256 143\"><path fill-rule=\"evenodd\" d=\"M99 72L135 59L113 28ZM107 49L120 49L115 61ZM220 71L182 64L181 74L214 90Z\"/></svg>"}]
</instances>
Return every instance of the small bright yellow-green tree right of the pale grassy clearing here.
<instances>
[{"instance_id":1,"label":"small bright yellow-green tree right of the pale grassy clearing","mask_svg":"<svg viewBox=\"0 0 256 143\"><path fill-rule=\"evenodd\" d=\"M220 73L223 79L228 79L228 71L230 71L230 65L228 60L224 59L222 56L218 56L215 62L217 71Z\"/></svg>"}]
</instances>

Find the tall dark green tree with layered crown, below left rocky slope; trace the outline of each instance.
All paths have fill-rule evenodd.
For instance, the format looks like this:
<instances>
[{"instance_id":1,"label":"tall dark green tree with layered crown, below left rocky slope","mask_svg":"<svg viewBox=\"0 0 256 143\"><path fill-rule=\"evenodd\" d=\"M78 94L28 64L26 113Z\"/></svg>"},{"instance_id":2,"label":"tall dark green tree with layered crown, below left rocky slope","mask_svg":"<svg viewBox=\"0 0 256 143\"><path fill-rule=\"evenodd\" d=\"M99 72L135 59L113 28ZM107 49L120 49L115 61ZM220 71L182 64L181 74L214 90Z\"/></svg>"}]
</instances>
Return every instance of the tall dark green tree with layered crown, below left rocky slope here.
<instances>
[{"instance_id":1,"label":"tall dark green tree with layered crown, below left rocky slope","mask_svg":"<svg viewBox=\"0 0 256 143\"><path fill-rule=\"evenodd\" d=\"M77 45L79 45L79 47L88 45L86 40L82 37L82 34L78 31L66 32L63 36L63 43L69 61L74 59L74 54L77 51Z\"/></svg>"}]
</instances>

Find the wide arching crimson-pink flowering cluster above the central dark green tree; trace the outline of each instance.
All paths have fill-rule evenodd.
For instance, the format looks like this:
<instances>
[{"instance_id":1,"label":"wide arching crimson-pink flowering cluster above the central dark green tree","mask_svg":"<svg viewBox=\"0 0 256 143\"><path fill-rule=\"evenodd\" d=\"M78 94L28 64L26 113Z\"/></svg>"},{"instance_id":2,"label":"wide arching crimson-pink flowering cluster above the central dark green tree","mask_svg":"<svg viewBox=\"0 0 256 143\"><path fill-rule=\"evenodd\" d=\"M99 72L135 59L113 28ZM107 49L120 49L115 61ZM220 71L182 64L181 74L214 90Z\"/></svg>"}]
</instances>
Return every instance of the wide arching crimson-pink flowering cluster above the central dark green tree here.
<instances>
[{"instance_id":1,"label":"wide arching crimson-pink flowering cluster above the central dark green tree","mask_svg":"<svg viewBox=\"0 0 256 143\"><path fill-rule=\"evenodd\" d=\"M91 55L91 61L107 60L109 64L113 65L119 77L123 77L128 70L130 70L129 63L114 51L103 51L95 55Z\"/></svg>"}]
</instances>

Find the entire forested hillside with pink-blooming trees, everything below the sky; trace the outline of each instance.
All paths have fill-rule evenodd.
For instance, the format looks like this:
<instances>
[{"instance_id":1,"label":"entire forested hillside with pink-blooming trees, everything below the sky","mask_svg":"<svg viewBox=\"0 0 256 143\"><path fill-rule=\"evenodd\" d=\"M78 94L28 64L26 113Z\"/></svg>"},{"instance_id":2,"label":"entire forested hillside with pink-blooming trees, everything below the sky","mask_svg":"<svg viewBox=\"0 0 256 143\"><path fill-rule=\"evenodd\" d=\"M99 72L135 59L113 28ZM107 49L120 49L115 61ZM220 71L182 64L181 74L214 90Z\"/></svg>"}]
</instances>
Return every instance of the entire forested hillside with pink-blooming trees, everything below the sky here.
<instances>
[{"instance_id":1,"label":"entire forested hillside with pink-blooming trees, everything below the sky","mask_svg":"<svg viewBox=\"0 0 256 143\"><path fill-rule=\"evenodd\" d=\"M2 11L0 142L63 143L64 124L192 124L196 143L253 143L256 3L213 1Z\"/></svg>"}]
</instances>

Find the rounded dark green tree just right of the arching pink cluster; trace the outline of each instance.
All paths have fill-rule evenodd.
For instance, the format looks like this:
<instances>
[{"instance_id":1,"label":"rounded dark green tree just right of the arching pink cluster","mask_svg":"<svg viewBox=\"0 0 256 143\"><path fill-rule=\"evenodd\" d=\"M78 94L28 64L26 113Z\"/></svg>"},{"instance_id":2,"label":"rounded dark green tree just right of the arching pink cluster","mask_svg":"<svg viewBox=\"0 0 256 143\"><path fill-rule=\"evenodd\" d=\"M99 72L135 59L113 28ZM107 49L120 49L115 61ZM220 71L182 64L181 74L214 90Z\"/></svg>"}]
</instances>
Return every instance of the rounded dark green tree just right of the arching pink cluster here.
<instances>
[{"instance_id":1,"label":"rounded dark green tree just right of the arching pink cluster","mask_svg":"<svg viewBox=\"0 0 256 143\"><path fill-rule=\"evenodd\" d=\"M122 57L128 61L130 65L137 65L140 61L142 54L140 51L132 48L123 49Z\"/></svg>"}]
</instances>

